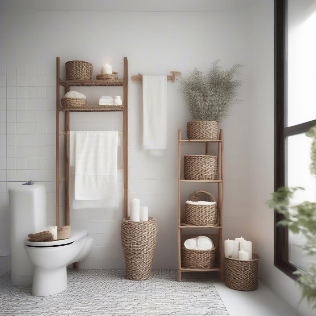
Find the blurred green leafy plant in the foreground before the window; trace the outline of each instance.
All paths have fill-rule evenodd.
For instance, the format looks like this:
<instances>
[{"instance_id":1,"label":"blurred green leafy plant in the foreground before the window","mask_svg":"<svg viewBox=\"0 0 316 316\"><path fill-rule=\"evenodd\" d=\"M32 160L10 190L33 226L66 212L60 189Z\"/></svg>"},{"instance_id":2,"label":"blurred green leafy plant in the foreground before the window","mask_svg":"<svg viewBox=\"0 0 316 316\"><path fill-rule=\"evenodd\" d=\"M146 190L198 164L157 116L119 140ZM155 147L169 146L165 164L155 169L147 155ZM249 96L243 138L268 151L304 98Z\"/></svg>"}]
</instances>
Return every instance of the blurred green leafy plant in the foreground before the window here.
<instances>
[{"instance_id":1,"label":"blurred green leafy plant in the foreground before the window","mask_svg":"<svg viewBox=\"0 0 316 316\"><path fill-rule=\"evenodd\" d=\"M306 135L313 137L310 169L311 173L316 175L316 126ZM267 204L284 217L277 225L287 226L293 233L304 235L306 243L302 248L307 255L316 256L316 203L306 201L299 205L290 205L297 190L304 189L281 187L272 193L272 199ZM306 298L308 303L312 303L313 308L316 308L316 263L309 265L307 270L297 269L294 274L298 276L297 282L302 290L301 301Z\"/></svg>"}]
</instances>

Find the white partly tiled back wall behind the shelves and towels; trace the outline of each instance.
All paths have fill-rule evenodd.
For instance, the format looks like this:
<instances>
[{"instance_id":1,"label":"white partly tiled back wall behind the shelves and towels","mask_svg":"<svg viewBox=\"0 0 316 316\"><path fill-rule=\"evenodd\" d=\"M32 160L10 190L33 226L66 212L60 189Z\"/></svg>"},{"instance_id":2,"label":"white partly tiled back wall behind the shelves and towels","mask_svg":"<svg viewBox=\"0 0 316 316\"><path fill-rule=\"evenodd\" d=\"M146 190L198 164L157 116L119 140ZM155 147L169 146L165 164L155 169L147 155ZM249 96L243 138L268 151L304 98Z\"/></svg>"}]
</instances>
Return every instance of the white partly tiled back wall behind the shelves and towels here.
<instances>
[{"instance_id":1,"label":"white partly tiled back wall behind the shelves and towels","mask_svg":"<svg viewBox=\"0 0 316 316\"><path fill-rule=\"evenodd\" d=\"M0 13L1 133L4 135L0 168L1 216L8 213L6 182L33 178L47 182L48 222L54 223L54 75L56 56L93 63L94 75L102 62L123 74L123 57L133 74L165 74L171 70L187 75L195 66L207 71L216 58L225 68L243 64L244 81L230 116L221 127L225 137L224 235L248 238L248 84L249 12L63 12L2 11ZM5 77L5 70L8 76ZM2 78L2 77L1 77ZM6 78L6 79L5 79ZM102 89L102 88L99 88ZM120 88L117 88L120 89ZM116 88L83 88L90 102L100 95L117 95ZM191 120L176 84L168 83L168 144L162 158L151 158L141 148L142 86L129 81L129 190L149 205L158 222L158 245L154 267L177 266L177 131L186 138ZM7 112L5 112L7 111ZM71 114L71 129L120 130L121 113ZM7 138L5 137L7 136ZM5 147L7 146L7 147ZM214 148L212 148L213 150ZM203 153L204 145L187 144L183 153ZM182 203L193 191L213 184L182 184ZM62 192L62 190L61 190ZM61 197L63 201L63 196ZM63 205L62 205L63 206ZM62 209L63 210L63 209ZM86 228L94 237L94 248L81 268L120 268L124 260L120 246L122 207L117 210L71 210L73 228ZM5 221L7 226L7 221ZM8 234L6 234L8 236ZM3 238L3 237L2 237ZM0 241L4 243L3 239ZM0 268L8 266L0 259Z\"/></svg>"}]
</instances>

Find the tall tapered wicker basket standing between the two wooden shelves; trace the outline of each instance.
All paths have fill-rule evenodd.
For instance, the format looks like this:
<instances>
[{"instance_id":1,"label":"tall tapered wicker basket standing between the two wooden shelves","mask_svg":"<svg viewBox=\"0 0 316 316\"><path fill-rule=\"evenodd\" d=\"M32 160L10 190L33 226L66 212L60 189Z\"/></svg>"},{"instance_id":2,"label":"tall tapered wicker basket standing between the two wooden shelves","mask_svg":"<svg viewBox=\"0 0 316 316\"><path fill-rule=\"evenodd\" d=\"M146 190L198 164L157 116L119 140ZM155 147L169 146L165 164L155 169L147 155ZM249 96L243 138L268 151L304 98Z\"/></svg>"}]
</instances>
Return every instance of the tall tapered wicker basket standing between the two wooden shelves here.
<instances>
[{"instance_id":1,"label":"tall tapered wicker basket standing between the two wooden shelves","mask_svg":"<svg viewBox=\"0 0 316 316\"><path fill-rule=\"evenodd\" d=\"M156 220L131 222L124 219L121 225L121 239L126 265L126 278L148 280L151 277L156 242Z\"/></svg>"}]
</instances>

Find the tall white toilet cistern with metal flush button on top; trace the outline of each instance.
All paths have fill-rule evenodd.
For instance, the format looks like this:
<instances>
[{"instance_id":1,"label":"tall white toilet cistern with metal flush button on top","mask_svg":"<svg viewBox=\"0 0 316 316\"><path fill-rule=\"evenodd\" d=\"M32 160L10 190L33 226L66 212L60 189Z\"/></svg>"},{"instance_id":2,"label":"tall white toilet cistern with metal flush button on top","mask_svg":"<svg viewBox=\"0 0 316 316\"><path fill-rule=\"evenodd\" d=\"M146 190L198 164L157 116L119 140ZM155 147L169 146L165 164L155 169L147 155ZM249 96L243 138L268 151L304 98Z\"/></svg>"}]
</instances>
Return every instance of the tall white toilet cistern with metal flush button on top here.
<instances>
[{"instance_id":1,"label":"tall white toilet cistern with metal flush button on top","mask_svg":"<svg viewBox=\"0 0 316 316\"><path fill-rule=\"evenodd\" d=\"M45 186L10 184L9 208L11 281L14 285L31 285L34 266L23 247L27 234L47 227Z\"/></svg>"}]
</instances>

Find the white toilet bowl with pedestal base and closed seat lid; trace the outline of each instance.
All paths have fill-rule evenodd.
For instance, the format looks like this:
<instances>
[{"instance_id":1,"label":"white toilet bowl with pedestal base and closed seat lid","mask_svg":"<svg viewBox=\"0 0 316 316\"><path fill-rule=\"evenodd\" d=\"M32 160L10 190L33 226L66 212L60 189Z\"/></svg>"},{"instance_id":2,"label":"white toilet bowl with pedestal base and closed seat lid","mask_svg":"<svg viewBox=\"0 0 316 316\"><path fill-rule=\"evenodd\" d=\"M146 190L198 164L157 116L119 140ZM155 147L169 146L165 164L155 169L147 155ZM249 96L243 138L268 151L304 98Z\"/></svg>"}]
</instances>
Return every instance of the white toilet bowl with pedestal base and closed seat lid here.
<instances>
[{"instance_id":1,"label":"white toilet bowl with pedestal base and closed seat lid","mask_svg":"<svg viewBox=\"0 0 316 316\"><path fill-rule=\"evenodd\" d=\"M63 240L24 241L27 257L34 264L32 295L48 296L67 289L67 265L86 258L93 238L88 230L71 232Z\"/></svg>"}]
</instances>

